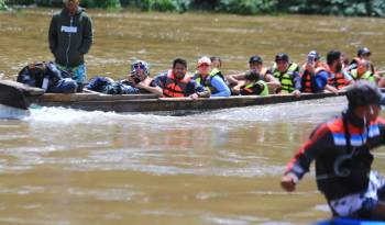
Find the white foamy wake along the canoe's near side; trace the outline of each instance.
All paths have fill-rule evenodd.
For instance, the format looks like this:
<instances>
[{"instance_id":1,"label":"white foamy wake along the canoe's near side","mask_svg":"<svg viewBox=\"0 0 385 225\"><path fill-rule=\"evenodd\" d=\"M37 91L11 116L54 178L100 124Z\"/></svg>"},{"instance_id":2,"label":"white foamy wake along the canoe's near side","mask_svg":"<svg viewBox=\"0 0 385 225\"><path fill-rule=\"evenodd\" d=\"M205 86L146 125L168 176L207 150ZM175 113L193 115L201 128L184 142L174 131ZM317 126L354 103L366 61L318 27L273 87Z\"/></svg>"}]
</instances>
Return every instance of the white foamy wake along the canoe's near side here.
<instances>
[{"instance_id":1,"label":"white foamy wake along the canoe's near side","mask_svg":"<svg viewBox=\"0 0 385 225\"><path fill-rule=\"evenodd\" d=\"M154 115L143 113L114 113L101 111L81 111L64 108L31 109L31 115L25 121L59 124L145 124L146 126L173 125L186 126L223 126L245 125L252 122L319 123L340 112L345 104L344 98L300 101L274 105L256 105L249 108L234 108L186 116ZM197 123L199 121L199 123Z\"/></svg>"}]
</instances>

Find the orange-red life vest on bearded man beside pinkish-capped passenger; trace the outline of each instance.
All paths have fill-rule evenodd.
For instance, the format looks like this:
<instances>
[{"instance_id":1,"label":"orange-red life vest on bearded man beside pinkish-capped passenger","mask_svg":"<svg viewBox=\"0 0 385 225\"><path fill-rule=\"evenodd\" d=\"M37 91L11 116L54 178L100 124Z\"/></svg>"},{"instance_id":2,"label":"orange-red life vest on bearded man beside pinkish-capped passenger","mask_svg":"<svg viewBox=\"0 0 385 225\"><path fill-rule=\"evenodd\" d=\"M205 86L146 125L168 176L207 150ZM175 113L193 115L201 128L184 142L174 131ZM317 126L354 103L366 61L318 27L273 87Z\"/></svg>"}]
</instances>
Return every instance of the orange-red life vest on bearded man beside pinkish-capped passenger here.
<instances>
[{"instance_id":1,"label":"orange-red life vest on bearded man beside pinkish-capped passenger","mask_svg":"<svg viewBox=\"0 0 385 225\"><path fill-rule=\"evenodd\" d=\"M168 70L163 94L169 98L186 97L186 87L190 82L190 79L191 78L188 76L185 76L183 79L177 79L173 70Z\"/></svg>"}]
</instances>

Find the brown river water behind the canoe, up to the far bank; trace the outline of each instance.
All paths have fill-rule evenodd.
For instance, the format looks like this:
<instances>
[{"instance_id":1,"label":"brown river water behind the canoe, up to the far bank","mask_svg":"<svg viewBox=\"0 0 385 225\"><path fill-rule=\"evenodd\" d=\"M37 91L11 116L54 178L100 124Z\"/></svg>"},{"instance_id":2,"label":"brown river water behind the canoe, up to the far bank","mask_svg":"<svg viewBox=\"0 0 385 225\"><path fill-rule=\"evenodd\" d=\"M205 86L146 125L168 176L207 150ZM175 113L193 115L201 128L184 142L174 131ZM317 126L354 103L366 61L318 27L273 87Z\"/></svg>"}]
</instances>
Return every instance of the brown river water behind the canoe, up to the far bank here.
<instances>
[{"instance_id":1,"label":"brown river water behind the canoe, up to the far bank","mask_svg":"<svg viewBox=\"0 0 385 225\"><path fill-rule=\"evenodd\" d=\"M14 79L26 64L52 60L47 44L51 16L58 9L37 8L0 13L0 70ZM322 56L339 48L350 58L366 46L373 63L385 64L385 20L319 15L249 16L223 13L108 12L89 9L95 43L86 56L89 78L121 78L132 58L151 64L151 75L169 69L175 57L188 60L194 71L202 55L220 56L223 74L248 68L258 54L268 67L277 53L286 52L301 64L311 49ZM197 25L199 24L199 25ZM37 27L37 29L36 29Z\"/></svg>"}]
</instances>

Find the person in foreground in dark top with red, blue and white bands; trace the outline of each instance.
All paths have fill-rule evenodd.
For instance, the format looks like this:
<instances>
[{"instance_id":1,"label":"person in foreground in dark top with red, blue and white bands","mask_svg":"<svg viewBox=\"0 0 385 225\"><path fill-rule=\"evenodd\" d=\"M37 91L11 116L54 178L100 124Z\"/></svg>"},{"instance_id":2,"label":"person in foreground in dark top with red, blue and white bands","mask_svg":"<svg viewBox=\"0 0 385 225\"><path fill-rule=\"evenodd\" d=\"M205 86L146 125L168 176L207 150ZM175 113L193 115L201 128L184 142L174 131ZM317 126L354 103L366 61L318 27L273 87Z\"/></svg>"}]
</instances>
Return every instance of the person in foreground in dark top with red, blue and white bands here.
<instances>
[{"instance_id":1,"label":"person in foreground in dark top with red, blue and white bands","mask_svg":"<svg viewBox=\"0 0 385 225\"><path fill-rule=\"evenodd\" d=\"M385 144L385 120L378 117L382 93L375 83L360 80L346 97L348 110L312 132L280 184L294 191L315 160L317 185L333 216L385 221L385 180L372 171L370 151Z\"/></svg>"}]
</instances>

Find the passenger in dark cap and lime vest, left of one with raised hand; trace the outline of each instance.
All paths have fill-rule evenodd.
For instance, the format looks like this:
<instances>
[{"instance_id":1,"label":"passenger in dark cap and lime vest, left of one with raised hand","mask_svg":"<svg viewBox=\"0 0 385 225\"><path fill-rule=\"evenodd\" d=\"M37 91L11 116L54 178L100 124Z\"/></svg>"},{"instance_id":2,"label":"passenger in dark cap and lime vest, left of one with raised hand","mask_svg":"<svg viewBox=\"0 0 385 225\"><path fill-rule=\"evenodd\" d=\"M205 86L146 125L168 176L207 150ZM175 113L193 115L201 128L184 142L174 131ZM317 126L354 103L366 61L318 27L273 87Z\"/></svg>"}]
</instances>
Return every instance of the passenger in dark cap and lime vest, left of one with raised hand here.
<instances>
[{"instance_id":1,"label":"passenger in dark cap and lime vest, left of one with raised hand","mask_svg":"<svg viewBox=\"0 0 385 225\"><path fill-rule=\"evenodd\" d=\"M280 82L278 93L293 93L299 97L301 87L298 65L290 63L289 56L285 53L275 56L275 64L272 74Z\"/></svg>"}]
</instances>

